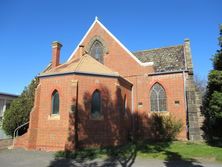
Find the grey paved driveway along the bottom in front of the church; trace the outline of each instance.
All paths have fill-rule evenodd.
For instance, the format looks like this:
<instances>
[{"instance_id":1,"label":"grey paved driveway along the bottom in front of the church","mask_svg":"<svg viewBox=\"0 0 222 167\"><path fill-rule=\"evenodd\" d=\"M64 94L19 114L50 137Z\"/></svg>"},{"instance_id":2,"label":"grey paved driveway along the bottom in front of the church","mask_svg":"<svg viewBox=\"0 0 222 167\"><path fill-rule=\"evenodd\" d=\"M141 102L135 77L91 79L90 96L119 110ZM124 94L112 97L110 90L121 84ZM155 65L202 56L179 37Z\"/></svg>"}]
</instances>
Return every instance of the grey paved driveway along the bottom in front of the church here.
<instances>
[{"instance_id":1,"label":"grey paved driveway along the bottom in front of the church","mask_svg":"<svg viewBox=\"0 0 222 167\"><path fill-rule=\"evenodd\" d=\"M22 149L0 150L0 167L221 167L222 164L191 161L162 161L153 159L96 159L93 161L54 159L53 153L25 151Z\"/></svg>"}]
</instances>

